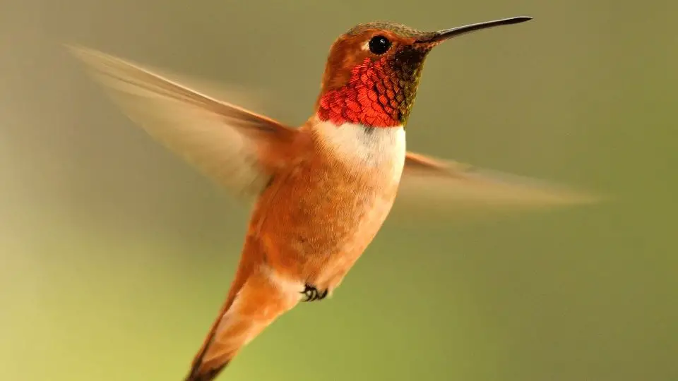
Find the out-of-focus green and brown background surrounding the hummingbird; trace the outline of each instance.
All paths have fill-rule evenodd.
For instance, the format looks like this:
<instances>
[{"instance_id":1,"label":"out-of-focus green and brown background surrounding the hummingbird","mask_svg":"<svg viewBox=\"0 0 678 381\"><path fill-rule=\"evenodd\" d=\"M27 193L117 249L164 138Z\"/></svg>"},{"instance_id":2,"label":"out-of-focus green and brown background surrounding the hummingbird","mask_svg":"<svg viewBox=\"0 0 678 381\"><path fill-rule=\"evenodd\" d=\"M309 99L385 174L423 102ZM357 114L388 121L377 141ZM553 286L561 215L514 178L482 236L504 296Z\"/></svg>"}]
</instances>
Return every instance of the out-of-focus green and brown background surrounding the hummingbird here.
<instances>
[{"instance_id":1,"label":"out-of-focus green and brown background surrounding the hummingbird","mask_svg":"<svg viewBox=\"0 0 678 381\"><path fill-rule=\"evenodd\" d=\"M394 214L330 301L302 304L223 380L678 380L678 5L660 1L5 3L0 380L181 380L248 210L134 126L76 42L245 89L302 123L355 23L529 15L429 56L410 149L614 199Z\"/></svg>"}]
</instances>

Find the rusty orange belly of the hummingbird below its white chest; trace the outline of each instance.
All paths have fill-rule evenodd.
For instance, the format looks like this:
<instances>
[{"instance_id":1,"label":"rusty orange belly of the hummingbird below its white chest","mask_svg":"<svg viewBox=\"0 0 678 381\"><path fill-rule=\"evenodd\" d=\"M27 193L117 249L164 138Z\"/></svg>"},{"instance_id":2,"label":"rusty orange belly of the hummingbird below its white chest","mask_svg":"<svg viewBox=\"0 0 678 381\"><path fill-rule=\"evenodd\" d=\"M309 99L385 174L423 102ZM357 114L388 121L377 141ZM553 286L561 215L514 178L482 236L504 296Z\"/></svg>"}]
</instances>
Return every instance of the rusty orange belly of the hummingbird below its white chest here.
<instances>
[{"instance_id":1,"label":"rusty orange belly of the hummingbird below its white chest","mask_svg":"<svg viewBox=\"0 0 678 381\"><path fill-rule=\"evenodd\" d=\"M250 236L283 277L335 289L388 216L398 180L389 168L353 168L314 155L273 179L257 202Z\"/></svg>"}]
</instances>

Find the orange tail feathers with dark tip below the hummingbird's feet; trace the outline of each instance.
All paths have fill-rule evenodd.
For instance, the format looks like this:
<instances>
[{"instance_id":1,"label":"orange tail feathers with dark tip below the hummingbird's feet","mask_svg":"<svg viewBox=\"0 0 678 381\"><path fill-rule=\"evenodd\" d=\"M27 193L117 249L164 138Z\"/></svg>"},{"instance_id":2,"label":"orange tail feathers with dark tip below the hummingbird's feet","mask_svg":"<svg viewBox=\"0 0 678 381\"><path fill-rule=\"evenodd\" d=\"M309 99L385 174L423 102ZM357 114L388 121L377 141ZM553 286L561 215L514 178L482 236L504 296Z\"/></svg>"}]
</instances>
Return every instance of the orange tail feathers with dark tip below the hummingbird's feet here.
<instances>
[{"instance_id":1,"label":"orange tail feathers with dark tip below the hummingbird's feet","mask_svg":"<svg viewBox=\"0 0 678 381\"><path fill-rule=\"evenodd\" d=\"M279 279L266 265L251 270L249 275L237 274L185 381L214 380L243 346L298 303L297 284Z\"/></svg>"}]
</instances>

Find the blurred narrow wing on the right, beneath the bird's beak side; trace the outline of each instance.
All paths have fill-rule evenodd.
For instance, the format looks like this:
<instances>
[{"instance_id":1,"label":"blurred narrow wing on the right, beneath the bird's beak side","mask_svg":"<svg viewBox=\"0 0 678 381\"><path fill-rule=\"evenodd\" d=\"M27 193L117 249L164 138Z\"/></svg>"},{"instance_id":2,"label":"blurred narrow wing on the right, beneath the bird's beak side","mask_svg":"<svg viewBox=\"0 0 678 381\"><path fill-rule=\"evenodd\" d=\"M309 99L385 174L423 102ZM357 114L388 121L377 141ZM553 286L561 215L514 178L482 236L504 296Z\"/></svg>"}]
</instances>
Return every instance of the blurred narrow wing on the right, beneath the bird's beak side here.
<instances>
[{"instance_id":1,"label":"blurred narrow wing on the right, beneath the bird's beak side","mask_svg":"<svg viewBox=\"0 0 678 381\"><path fill-rule=\"evenodd\" d=\"M394 211L424 215L530 210L580 205L597 198L566 188L408 152ZM416 214L416 213L415 213Z\"/></svg>"}]
</instances>

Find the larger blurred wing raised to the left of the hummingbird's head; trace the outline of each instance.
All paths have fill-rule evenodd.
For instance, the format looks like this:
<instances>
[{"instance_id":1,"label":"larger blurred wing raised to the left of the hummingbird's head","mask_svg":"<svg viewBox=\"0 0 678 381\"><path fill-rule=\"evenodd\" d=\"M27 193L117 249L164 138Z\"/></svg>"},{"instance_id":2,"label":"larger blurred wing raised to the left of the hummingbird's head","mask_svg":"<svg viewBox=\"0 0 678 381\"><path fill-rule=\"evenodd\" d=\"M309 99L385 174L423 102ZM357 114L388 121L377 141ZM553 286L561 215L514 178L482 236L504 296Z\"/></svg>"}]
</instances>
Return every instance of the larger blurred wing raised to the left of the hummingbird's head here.
<instances>
[{"instance_id":1,"label":"larger blurred wing raised to the left of the hummingbird's head","mask_svg":"<svg viewBox=\"0 0 678 381\"><path fill-rule=\"evenodd\" d=\"M131 62L85 47L69 48L130 119L236 194L258 193L297 135L277 121Z\"/></svg>"}]
</instances>

